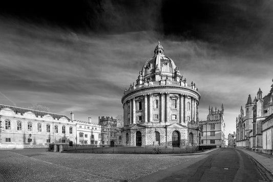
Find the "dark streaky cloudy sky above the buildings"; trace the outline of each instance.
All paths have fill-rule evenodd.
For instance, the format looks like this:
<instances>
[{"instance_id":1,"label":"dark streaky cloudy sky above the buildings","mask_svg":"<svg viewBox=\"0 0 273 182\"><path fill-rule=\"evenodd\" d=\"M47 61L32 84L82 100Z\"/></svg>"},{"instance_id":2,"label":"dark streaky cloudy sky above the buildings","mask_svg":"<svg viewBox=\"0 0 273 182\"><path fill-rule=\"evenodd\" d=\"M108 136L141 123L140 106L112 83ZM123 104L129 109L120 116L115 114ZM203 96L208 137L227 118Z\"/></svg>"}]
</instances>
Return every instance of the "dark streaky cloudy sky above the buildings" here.
<instances>
[{"instance_id":1,"label":"dark streaky cloudy sky above the buildings","mask_svg":"<svg viewBox=\"0 0 273 182\"><path fill-rule=\"evenodd\" d=\"M272 84L271 1L28 1L0 5L0 103L87 120L121 115L157 42L208 106L225 108L226 132L249 94Z\"/></svg>"}]
</instances>

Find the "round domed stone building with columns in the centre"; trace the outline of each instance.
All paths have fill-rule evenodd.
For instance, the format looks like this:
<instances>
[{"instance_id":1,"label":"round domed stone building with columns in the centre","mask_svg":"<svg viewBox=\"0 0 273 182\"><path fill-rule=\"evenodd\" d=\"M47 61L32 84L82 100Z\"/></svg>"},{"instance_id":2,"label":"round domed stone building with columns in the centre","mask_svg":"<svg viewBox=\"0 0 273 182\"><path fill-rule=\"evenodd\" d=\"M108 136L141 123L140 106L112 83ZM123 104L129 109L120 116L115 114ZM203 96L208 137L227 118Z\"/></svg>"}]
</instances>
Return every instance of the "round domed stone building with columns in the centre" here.
<instances>
[{"instance_id":1,"label":"round domed stone building with columns in the centre","mask_svg":"<svg viewBox=\"0 0 273 182\"><path fill-rule=\"evenodd\" d=\"M136 84L124 90L122 144L129 146L199 145L195 83L188 84L160 42L145 62Z\"/></svg>"}]
</instances>

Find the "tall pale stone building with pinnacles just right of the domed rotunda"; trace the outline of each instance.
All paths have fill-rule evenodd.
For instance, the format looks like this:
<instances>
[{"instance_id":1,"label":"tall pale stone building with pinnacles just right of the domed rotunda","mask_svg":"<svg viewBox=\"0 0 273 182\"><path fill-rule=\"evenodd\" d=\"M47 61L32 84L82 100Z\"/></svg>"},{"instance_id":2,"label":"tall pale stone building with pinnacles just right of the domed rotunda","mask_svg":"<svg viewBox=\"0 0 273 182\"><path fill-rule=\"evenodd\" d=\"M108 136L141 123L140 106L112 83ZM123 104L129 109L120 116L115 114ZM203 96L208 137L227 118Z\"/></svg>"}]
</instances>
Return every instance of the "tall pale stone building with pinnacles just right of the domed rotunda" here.
<instances>
[{"instance_id":1,"label":"tall pale stone building with pinnacles just right of the domed rotunda","mask_svg":"<svg viewBox=\"0 0 273 182\"><path fill-rule=\"evenodd\" d=\"M198 123L201 132L200 145L216 145L224 147L225 145L225 122L224 122L224 106L221 110L215 107L208 107L208 115L206 121Z\"/></svg>"}]
</instances>

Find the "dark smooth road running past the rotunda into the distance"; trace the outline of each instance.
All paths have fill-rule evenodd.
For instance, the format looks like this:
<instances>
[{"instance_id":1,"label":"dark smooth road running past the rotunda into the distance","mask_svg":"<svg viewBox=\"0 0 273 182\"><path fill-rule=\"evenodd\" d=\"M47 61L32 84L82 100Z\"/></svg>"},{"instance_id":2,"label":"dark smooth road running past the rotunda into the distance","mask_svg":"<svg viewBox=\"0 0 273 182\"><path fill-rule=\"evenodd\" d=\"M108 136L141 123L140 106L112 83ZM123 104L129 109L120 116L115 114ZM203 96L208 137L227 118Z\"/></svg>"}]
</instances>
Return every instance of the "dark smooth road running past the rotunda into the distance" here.
<instances>
[{"instance_id":1,"label":"dark smooth road running past the rotunda into the distance","mask_svg":"<svg viewBox=\"0 0 273 182\"><path fill-rule=\"evenodd\" d=\"M257 154L259 155L259 154ZM136 181L272 181L259 163L241 150L221 148Z\"/></svg>"}]
</instances>

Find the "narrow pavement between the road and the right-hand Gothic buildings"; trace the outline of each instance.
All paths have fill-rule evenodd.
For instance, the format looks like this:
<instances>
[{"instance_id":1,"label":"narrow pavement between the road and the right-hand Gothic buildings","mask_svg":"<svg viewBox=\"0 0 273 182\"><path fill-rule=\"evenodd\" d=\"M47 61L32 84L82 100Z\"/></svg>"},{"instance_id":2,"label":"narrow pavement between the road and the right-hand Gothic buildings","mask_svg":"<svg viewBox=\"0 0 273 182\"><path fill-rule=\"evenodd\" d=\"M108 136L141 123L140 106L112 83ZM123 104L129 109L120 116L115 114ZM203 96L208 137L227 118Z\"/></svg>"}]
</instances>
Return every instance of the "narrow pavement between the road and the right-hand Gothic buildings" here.
<instances>
[{"instance_id":1,"label":"narrow pavement between the road and the right-hand Gothic buildings","mask_svg":"<svg viewBox=\"0 0 273 182\"><path fill-rule=\"evenodd\" d=\"M260 163L267 171L269 171L273 175L273 155L258 153L244 148L236 149L241 150L250 155L251 157L253 157L258 163Z\"/></svg>"}]
</instances>

